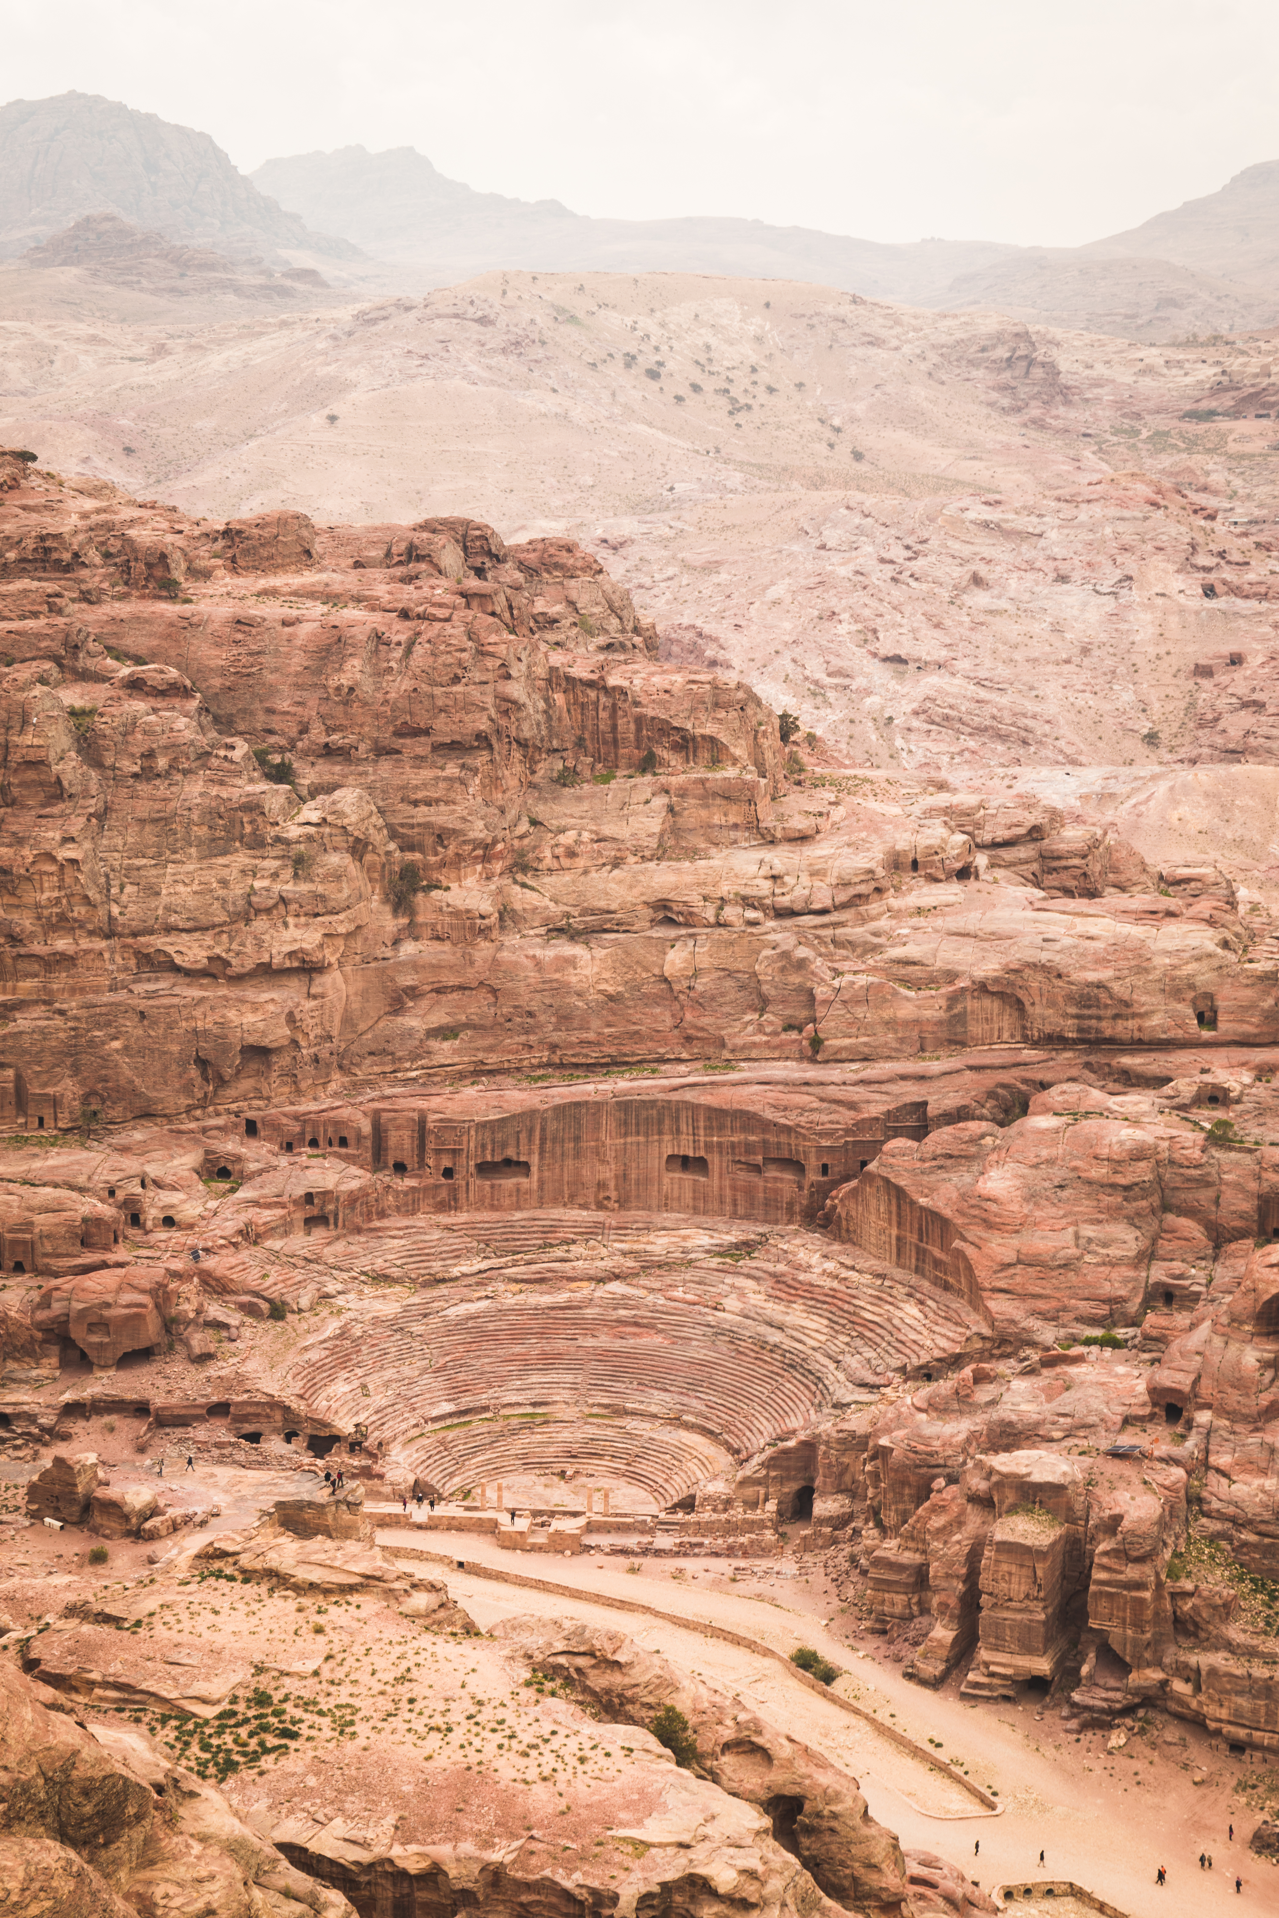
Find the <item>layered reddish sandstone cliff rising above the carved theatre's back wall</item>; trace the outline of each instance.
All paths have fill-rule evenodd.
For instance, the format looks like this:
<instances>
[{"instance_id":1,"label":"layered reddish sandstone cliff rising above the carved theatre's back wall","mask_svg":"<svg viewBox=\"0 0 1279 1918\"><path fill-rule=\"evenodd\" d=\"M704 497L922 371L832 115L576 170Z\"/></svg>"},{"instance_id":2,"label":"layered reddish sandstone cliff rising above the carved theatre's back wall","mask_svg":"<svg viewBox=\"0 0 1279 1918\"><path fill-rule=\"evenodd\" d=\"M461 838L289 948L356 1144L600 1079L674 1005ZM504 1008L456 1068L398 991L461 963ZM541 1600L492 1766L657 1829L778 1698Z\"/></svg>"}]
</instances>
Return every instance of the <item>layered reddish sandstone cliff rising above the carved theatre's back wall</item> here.
<instances>
[{"instance_id":1,"label":"layered reddish sandstone cliff rising above the carved theatre's back wall","mask_svg":"<svg viewBox=\"0 0 1279 1918\"><path fill-rule=\"evenodd\" d=\"M794 784L756 694L654 666L570 541L6 485L29 1130L408 1068L1279 1034L1231 900L1118 894L1141 861L1055 807Z\"/></svg>"}]
</instances>

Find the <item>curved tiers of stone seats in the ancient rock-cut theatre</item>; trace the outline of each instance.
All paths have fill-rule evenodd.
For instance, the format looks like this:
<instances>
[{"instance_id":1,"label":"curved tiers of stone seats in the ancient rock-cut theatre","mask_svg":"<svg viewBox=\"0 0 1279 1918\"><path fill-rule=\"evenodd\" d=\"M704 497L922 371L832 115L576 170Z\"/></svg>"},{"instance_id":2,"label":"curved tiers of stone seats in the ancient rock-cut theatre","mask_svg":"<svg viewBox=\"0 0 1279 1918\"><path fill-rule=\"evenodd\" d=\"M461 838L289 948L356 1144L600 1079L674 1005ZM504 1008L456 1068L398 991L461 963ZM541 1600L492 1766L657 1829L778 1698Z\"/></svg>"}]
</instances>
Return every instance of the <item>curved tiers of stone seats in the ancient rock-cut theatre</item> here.
<instances>
[{"instance_id":1,"label":"curved tiers of stone seats in the ancient rock-cut theatre","mask_svg":"<svg viewBox=\"0 0 1279 1918\"><path fill-rule=\"evenodd\" d=\"M742 1243L702 1220L631 1216L604 1247L598 1214L525 1214L520 1251L495 1243L514 1224L362 1233L360 1268L412 1275L418 1293L343 1314L297 1354L288 1389L345 1429L364 1423L441 1492L571 1465L669 1504L872 1377L982 1333L963 1300L859 1270L802 1229Z\"/></svg>"}]
</instances>

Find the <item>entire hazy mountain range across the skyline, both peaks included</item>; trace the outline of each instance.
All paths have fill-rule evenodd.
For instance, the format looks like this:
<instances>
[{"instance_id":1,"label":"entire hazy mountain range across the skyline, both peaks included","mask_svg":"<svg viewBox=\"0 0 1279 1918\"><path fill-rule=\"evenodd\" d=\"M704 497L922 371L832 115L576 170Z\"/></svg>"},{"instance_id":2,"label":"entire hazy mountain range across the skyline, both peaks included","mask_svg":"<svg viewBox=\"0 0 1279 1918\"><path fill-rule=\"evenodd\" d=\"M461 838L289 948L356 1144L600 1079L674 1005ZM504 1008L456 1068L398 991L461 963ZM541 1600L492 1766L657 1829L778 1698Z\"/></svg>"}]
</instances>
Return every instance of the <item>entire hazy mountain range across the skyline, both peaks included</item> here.
<instances>
[{"instance_id":1,"label":"entire hazy mountain range across the skyline, both peaks included","mask_svg":"<svg viewBox=\"0 0 1279 1918\"><path fill-rule=\"evenodd\" d=\"M612 221L481 194L410 146L268 159L247 176L205 132L100 94L0 107L0 257L111 215L165 240L364 288L493 270L803 280L911 307L1174 339L1279 324L1279 161L1083 247L888 246L763 221Z\"/></svg>"}]
</instances>

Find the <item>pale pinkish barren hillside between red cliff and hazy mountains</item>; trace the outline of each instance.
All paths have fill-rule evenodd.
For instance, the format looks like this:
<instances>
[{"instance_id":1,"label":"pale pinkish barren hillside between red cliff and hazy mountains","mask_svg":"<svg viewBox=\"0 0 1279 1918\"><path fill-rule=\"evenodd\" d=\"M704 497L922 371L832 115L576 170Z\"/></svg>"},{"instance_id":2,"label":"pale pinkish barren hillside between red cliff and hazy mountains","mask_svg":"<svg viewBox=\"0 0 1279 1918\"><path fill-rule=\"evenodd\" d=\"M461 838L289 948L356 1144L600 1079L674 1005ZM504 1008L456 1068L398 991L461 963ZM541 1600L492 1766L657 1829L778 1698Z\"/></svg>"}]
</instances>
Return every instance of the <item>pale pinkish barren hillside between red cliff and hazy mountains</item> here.
<instances>
[{"instance_id":1,"label":"pale pinkish barren hillside between red cliff and hazy mountains","mask_svg":"<svg viewBox=\"0 0 1279 1918\"><path fill-rule=\"evenodd\" d=\"M6 280L4 435L63 470L207 516L568 533L667 658L859 763L1273 756L1267 336L1151 349L673 274L303 288L203 324L163 282Z\"/></svg>"}]
</instances>

